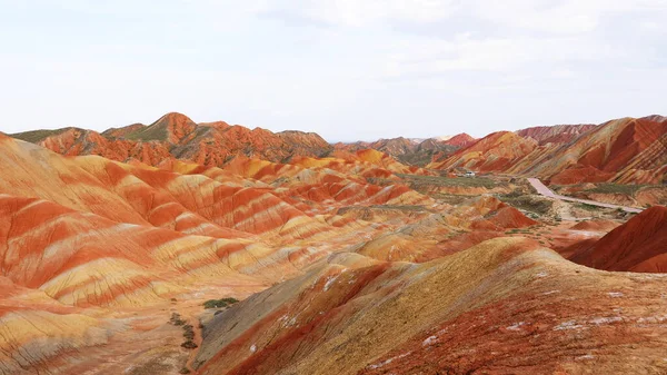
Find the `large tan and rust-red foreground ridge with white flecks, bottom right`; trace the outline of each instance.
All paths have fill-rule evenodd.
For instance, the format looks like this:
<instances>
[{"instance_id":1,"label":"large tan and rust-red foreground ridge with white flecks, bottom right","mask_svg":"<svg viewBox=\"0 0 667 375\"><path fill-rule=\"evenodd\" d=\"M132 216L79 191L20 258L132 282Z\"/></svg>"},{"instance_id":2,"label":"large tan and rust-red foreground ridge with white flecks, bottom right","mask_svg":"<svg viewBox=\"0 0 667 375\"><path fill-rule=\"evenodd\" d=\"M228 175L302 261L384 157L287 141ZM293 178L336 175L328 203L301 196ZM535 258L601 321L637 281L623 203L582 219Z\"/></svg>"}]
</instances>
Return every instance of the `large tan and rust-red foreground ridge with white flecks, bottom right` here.
<instances>
[{"instance_id":1,"label":"large tan and rust-red foreground ridge with white flecks, bottom right","mask_svg":"<svg viewBox=\"0 0 667 375\"><path fill-rule=\"evenodd\" d=\"M593 364L657 374L667 369L666 283L584 268L524 238L418 266L332 259L217 316L197 364L202 374L534 374Z\"/></svg>"}]
</instances>

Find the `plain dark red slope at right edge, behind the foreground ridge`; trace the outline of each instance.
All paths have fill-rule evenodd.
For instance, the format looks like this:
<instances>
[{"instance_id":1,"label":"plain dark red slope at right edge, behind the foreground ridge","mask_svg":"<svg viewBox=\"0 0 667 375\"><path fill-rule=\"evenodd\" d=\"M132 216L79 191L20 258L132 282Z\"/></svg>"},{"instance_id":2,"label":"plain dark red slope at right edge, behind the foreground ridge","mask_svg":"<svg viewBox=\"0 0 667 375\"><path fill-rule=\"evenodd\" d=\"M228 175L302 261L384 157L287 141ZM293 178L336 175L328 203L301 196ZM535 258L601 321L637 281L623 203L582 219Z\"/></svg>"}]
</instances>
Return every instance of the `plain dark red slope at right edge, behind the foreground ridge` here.
<instances>
[{"instance_id":1,"label":"plain dark red slope at right edge, behind the foreground ridge","mask_svg":"<svg viewBox=\"0 0 667 375\"><path fill-rule=\"evenodd\" d=\"M588 246L573 261L605 270L667 272L667 207L655 206Z\"/></svg>"}]
</instances>

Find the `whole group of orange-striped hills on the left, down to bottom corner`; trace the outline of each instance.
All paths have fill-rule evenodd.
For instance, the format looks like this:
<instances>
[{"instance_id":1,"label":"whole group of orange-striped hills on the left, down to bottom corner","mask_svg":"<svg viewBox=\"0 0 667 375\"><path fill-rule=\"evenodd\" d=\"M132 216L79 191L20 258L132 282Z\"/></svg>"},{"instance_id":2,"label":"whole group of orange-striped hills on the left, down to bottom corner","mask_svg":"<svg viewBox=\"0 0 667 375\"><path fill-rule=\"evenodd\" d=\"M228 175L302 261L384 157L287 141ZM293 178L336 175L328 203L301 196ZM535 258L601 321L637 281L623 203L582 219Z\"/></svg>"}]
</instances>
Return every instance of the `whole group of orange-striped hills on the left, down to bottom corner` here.
<instances>
[{"instance_id":1,"label":"whole group of orange-striped hills on the left, down to bottom corner","mask_svg":"<svg viewBox=\"0 0 667 375\"><path fill-rule=\"evenodd\" d=\"M256 159L220 169L167 158L157 168L6 136L0 160L6 374L78 373L64 368L135 329L113 312L191 290L248 295L390 228L337 207L434 205L405 185L368 184L366 168L379 167L360 161L347 174Z\"/></svg>"}]
</instances>

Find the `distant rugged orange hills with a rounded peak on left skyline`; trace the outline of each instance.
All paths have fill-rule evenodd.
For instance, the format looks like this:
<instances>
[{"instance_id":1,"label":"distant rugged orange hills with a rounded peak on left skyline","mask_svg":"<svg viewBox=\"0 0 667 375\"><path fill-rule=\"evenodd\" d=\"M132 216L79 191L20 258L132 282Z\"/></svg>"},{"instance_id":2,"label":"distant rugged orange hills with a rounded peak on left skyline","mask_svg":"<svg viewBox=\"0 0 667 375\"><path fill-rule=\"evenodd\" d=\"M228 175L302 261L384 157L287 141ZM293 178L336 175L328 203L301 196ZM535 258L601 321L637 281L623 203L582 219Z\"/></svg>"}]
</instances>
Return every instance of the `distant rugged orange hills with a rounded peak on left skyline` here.
<instances>
[{"instance_id":1,"label":"distant rugged orange hills with a rounded peak on left skyline","mask_svg":"<svg viewBox=\"0 0 667 375\"><path fill-rule=\"evenodd\" d=\"M12 135L62 155L99 155L118 161L137 159L156 165L167 157L206 166L221 166L242 155L271 161L293 156L319 157L331 146L313 132L271 132L227 122L195 124L181 114L167 114L156 122L109 129L102 134L78 128L37 130Z\"/></svg>"}]
</instances>

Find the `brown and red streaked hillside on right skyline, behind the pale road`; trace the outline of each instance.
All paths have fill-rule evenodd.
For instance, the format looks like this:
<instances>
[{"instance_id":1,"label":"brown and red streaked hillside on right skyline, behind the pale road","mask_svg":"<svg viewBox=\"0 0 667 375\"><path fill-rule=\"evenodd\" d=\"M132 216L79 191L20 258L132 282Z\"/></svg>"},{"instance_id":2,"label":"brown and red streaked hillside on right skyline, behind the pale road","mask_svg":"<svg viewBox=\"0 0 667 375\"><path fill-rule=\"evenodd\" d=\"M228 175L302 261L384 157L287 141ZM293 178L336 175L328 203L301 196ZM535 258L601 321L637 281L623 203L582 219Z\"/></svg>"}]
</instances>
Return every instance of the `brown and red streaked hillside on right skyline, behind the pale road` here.
<instances>
[{"instance_id":1,"label":"brown and red streaked hillside on right skyline, behind the pale road","mask_svg":"<svg viewBox=\"0 0 667 375\"><path fill-rule=\"evenodd\" d=\"M495 132L428 168L465 168L539 177L551 184L661 184L667 120L623 118L599 126Z\"/></svg>"}]
</instances>

